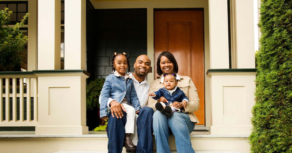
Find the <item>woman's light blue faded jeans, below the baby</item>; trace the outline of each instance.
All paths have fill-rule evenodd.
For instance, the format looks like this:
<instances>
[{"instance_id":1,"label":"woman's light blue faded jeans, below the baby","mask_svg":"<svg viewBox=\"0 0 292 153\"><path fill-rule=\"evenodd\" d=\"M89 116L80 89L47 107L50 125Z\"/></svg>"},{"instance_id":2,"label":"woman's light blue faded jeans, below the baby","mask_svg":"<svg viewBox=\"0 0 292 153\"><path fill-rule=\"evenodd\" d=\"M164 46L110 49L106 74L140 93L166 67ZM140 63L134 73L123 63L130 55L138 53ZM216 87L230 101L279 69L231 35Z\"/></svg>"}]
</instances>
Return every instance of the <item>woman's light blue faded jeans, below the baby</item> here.
<instances>
[{"instance_id":1,"label":"woman's light blue faded jeans, below the baby","mask_svg":"<svg viewBox=\"0 0 292 153\"><path fill-rule=\"evenodd\" d=\"M173 112L170 118L159 111L153 114L153 131L157 152L170 153L168 136L174 135L175 146L178 153L194 153L192 148L190 133L193 131L195 123L191 122L189 115L182 112Z\"/></svg>"}]
</instances>

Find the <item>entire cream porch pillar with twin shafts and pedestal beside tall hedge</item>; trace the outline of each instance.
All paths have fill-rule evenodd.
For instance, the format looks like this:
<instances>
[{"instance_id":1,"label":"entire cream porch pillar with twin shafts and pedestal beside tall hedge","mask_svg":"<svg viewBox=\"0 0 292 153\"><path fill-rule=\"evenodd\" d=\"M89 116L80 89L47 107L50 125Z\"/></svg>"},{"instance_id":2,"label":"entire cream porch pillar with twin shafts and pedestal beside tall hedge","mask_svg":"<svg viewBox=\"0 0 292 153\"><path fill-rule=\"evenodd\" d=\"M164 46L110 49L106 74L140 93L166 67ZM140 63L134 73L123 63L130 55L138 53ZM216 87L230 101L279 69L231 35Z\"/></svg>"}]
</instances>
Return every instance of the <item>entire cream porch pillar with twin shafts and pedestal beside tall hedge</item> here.
<instances>
[{"instance_id":1,"label":"entire cream porch pillar with twin shafts and pedestal beside tall hedge","mask_svg":"<svg viewBox=\"0 0 292 153\"><path fill-rule=\"evenodd\" d=\"M245 8L243 7L245 1L239 1L237 1L238 5ZM252 1L250 3L252 4ZM251 12L253 12L252 8ZM237 24L244 24L251 20L251 25L253 25L253 17L247 21L250 13L246 13L245 9L240 10L241 13L237 12L239 14L237 14L236 21L233 21ZM244 25L247 24L249 25L249 23ZM238 30L236 27L233 29L237 30L237 34L240 35L234 38L237 40L238 51L240 51L240 53L235 53L235 57L237 57L235 60L241 65L236 68L245 69L229 69L227 1L209 0L211 69L208 69L207 76L211 78L210 134L250 134L250 117L255 88L253 80L256 76L256 69L254 65L247 64L245 61L246 59L252 61L251 47L246 43L251 41L253 44L254 37L250 34L253 34L253 28L250 29L244 25L240 25ZM241 31L242 29L244 31ZM253 48L253 45L251 46Z\"/></svg>"}]
</instances>

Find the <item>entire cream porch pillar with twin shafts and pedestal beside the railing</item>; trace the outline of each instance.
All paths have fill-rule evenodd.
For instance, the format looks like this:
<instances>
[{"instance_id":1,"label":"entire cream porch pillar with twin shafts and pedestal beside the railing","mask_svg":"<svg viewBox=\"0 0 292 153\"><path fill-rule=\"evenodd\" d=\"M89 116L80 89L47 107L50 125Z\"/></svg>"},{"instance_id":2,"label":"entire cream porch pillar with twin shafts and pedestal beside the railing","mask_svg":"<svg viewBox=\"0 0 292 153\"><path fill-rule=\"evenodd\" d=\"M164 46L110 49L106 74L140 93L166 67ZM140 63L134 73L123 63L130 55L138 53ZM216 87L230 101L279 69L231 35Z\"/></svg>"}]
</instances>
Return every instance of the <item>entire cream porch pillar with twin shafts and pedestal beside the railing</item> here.
<instances>
[{"instance_id":1,"label":"entire cream porch pillar with twin shafts and pedestal beside the railing","mask_svg":"<svg viewBox=\"0 0 292 153\"><path fill-rule=\"evenodd\" d=\"M52 0L45 0L52 1ZM55 34L47 31L50 37L46 41L51 41L55 37L55 44L58 51L58 61L60 69L60 0L58 10L46 11L48 14L59 14L58 26L55 24ZM39 70L34 71L38 76L39 85L39 120L36 126L36 134L88 134L86 126L86 1L69 0L65 1L65 42L64 58L65 70L53 70L51 60L46 61L41 56L46 65L39 65ZM47 3L39 1L39 12L41 4L46 4L46 8L51 8ZM53 3L53 2L51 2ZM58 13L56 13L58 12ZM40 17L39 13L39 18ZM49 15L48 15L49 16ZM51 17L51 16L49 16ZM43 20L48 23L48 19ZM51 21L51 20L50 20ZM56 21L57 22L57 21ZM46 27L46 24L42 24ZM51 25L53 26L53 25ZM42 27L42 29L44 29ZM40 25L39 25L40 29ZM56 32L58 29L58 32ZM44 37L44 36L43 36ZM40 39L40 38L39 38ZM47 49L46 51L50 51ZM39 49L40 52L40 49ZM45 54L45 53L42 53ZM51 54L47 55L51 59ZM41 61L43 63L43 61Z\"/></svg>"}]
</instances>

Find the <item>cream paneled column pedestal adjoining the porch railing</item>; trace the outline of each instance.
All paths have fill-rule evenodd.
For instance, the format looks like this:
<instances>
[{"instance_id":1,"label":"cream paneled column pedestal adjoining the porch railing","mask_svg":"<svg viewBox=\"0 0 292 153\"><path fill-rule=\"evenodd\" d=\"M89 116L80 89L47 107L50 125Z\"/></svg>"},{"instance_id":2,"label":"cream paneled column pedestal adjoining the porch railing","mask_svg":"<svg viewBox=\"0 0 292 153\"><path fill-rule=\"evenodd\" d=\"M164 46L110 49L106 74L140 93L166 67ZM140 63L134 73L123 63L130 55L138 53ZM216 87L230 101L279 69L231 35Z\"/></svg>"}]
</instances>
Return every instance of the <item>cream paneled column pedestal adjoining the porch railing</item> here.
<instances>
[{"instance_id":1,"label":"cream paneled column pedestal adjoining the porch railing","mask_svg":"<svg viewBox=\"0 0 292 153\"><path fill-rule=\"evenodd\" d=\"M72 75L38 76L41 88L38 92L39 125L36 126L36 133L88 134L85 103L88 76Z\"/></svg>"}]
</instances>

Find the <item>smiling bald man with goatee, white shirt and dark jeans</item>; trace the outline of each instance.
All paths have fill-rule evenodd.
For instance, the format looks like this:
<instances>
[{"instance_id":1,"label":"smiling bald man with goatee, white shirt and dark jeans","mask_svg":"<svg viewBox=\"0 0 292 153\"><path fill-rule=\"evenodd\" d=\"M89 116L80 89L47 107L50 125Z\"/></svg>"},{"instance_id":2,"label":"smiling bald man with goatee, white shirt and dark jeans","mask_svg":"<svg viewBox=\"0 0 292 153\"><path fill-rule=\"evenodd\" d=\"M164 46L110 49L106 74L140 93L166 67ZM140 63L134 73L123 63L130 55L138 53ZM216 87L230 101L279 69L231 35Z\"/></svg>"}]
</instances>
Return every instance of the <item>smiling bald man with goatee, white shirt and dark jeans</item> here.
<instances>
[{"instance_id":1,"label":"smiling bald man with goatee, white shirt and dark jeans","mask_svg":"<svg viewBox=\"0 0 292 153\"><path fill-rule=\"evenodd\" d=\"M140 55L137 57L134 68L134 73L129 76L133 79L134 87L140 101L142 109L139 112L139 116L136 115L136 125L138 142L136 141L137 136L132 136L134 144L137 142L137 153L152 153L153 150L153 140L152 140L152 116L153 109L147 106L148 102L148 91L149 83L146 80L147 74L152 70L151 60L147 55ZM107 137L108 141L108 152L118 153L122 151L126 123L125 109L121 103L109 98L108 108L112 116L109 116L107 123ZM135 144L136 145L136 144ZM127 151L127 150L126 150Z\"/></svg>"}]
</instances>

